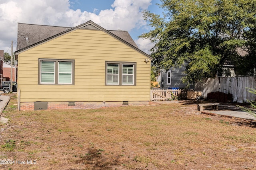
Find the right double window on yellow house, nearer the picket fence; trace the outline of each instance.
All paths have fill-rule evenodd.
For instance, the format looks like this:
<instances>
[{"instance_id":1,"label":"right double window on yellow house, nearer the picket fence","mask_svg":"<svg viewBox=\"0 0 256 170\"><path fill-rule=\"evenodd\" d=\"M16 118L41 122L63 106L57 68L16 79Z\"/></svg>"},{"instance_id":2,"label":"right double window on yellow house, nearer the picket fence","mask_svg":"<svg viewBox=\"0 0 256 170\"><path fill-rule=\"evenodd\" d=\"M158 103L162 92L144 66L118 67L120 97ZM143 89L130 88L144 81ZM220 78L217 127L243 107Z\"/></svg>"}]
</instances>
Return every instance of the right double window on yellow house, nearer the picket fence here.
<instances>
[{"instance_id":1,"label":"right double window on yellow house, nearer the picket fence","mask_svg":"<svg viewBox=\"0 0 256 170\"><path fill-rule=\"evenodd\" d=\"M106 85L135 86L136 63L106 62Z\"/></svg>"}]
</instances>

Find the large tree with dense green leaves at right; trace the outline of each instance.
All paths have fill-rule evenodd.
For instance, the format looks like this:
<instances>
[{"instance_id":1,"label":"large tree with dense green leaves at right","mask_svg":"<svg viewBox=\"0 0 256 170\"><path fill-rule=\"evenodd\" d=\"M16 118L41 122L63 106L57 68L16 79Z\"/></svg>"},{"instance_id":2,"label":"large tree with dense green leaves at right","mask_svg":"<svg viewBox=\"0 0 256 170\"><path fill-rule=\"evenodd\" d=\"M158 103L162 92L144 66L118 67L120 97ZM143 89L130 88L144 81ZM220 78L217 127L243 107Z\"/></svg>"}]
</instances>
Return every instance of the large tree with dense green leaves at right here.
<instances>
[{"instance_id":1,"label":"large tree with dense green leaves at right","mask_svg":"<svg viewBox=\"0 0 256 170\"><path fill-rule=\"evenodd\" d=\"M153 64L168 70L186 66L184 83L215 77L229 61L256 67L256 0L161 0L163 15L144 11L152 30Z\"/></svg>"}]
</instances>

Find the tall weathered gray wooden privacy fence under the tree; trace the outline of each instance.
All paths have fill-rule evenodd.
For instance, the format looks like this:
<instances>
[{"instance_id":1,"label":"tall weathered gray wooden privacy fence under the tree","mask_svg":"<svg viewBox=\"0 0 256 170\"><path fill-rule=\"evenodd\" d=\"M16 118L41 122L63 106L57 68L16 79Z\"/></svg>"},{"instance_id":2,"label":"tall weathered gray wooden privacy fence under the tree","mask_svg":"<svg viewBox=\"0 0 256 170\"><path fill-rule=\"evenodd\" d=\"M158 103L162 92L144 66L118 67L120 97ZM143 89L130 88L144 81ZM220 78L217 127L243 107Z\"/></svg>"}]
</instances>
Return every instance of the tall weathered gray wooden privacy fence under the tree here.
<instances>
[{"instance_id":1,"label":"tall weathered gray wooden privacy fence under the tree","mask_svg":"<svg viewBox=\"0 0 256 170\"><path fill-rule=\"evenodd\" d=\"M249 93L246 88L256 88L254 76L208 78L195 84L195 90L202 91L202 96L205 98L210 92L223 92L232 94L233 102L243 103L247 100L256 100L256 95Z\"/></svg>"}]
</instances>

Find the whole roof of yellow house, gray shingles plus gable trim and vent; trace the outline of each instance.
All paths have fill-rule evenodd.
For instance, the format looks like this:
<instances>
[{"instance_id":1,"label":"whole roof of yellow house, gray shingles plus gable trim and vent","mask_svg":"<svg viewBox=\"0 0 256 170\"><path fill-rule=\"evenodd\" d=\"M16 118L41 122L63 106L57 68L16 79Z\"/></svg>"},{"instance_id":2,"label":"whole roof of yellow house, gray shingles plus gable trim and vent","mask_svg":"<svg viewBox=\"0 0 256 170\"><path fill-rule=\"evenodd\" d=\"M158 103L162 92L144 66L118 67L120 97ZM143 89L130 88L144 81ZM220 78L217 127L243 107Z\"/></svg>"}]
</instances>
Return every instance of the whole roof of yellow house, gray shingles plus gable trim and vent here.
<instances>
[{"instance_id":1,"label":"whole roof of yellow house, gray shingles plus gable trim and vent","mask_svg":"<svg viewBox=\"0 0 256 170\"><path fill-rule=\"evenodd\" d=\"M71 32L75 29L93 29L93 30L102 30L111 35L112 37L126 43L130 47L134 48L136 51L142 53L146 57L152 59L148 54L144 53L133 41L132 37L127 31L114 31L106 30L103 27L100 27L92 21L88 21L76 27L58 27L58 26L47 26L47 25L34 25L26 23L18 23L18 40L17 40L17 51L16 54L19 54L23 51L26 51L36 45L49 41L55 37L64 35L68 32Z\"/></svg>"}]
</instances>

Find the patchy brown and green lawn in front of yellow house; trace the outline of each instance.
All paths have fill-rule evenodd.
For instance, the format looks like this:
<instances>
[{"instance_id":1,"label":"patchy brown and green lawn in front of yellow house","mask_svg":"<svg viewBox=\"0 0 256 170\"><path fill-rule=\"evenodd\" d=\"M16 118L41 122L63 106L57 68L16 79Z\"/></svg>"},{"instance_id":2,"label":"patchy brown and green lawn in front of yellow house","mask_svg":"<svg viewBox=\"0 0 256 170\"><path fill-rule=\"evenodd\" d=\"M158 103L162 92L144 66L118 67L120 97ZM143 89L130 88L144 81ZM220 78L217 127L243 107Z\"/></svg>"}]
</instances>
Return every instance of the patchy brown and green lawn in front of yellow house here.
<instances>
[{"instance_id":1,"label":"patchy brown and green lawn in front of yellow house","mask_svg":"<svg viewBox=\"0 0 256 170\"><path fill-rule=\"evenodd\" d=\"M189 101L54 111L16 104L12 96L2 114L0 169L256 169L255 122L204 115Z\"/></svg>"}]
</instances>

